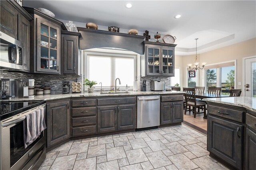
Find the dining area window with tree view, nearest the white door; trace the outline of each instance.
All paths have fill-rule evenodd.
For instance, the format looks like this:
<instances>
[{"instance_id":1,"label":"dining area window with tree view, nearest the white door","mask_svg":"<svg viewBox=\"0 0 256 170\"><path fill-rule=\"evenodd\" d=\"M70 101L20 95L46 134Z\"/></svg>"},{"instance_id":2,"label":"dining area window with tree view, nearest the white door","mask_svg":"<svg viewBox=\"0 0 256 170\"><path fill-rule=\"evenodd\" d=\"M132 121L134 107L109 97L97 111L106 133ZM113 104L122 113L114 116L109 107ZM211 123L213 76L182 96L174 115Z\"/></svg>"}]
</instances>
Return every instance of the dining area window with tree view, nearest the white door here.
<instances>
[{"instance_id":1,"label":"dining area window with tree view, nearest the white door","mask_svg":"<svg viewBox=\"0 0 256 170\"><path fill-rule=\"evenodd\" d=\"M205 66L205 85L208 87L221 87L222 94L229 94L230 88L235 86L235 62L213 64Z\"/></svg>"}]
</instances>

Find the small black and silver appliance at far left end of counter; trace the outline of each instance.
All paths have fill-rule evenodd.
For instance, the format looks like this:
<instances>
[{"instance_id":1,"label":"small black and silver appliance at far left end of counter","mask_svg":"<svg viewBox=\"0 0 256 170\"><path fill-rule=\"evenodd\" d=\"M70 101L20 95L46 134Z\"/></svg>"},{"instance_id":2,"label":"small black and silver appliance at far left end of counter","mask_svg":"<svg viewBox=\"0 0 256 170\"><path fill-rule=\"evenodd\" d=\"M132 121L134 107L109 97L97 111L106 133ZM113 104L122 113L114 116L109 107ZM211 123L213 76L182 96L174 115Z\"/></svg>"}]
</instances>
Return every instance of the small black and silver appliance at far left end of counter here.
<instances>
[{"instance_id":1,"label":"small black and silver appliance at far left end of counter","mask_svg":"<svg viewBox=\"0 0 256 170\"><path fill-rule=\"evenodd\" d=\"M10 100L15 98L14 79L2 78L1 82L1 100Z\"/></svg>"}]
</instances>

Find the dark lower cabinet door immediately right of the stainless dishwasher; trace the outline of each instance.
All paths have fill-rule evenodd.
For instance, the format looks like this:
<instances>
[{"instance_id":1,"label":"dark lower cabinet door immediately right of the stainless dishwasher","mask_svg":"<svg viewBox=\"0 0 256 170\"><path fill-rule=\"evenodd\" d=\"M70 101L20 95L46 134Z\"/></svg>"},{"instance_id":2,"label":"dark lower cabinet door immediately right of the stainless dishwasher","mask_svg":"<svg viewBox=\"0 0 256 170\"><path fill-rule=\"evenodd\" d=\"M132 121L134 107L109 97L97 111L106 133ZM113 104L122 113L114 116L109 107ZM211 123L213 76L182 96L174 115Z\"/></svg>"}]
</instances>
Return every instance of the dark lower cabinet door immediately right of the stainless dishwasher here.
<instances>
[{"instance_id":1,"label":"dark lower cabinet door immediately right of the stainless dishwasher","mask_svg":"<svg viewBox=\"0 0 256 170\"><path fill-rule=\"evenodd\" d=\"M161 103L161 125L172 123L172 102Z\"/></svg>"}]
</instances>

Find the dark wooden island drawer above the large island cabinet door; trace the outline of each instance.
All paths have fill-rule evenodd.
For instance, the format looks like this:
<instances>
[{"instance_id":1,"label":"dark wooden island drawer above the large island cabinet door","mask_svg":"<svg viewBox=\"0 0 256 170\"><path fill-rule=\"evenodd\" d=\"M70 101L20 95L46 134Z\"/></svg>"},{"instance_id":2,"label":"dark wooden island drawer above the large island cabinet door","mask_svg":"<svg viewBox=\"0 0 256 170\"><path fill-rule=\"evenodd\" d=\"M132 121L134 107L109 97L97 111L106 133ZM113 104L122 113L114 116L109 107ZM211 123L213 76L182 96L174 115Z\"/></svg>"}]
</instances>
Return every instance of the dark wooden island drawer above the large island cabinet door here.
<instances>
[{"instance_id":1,"label":"dark wooden island drawer above the large island cabinet door","mask_svg":"<svg viewBox=\"0 0 256 170\"><path fill-rule=\"evenodd\" d=\"M244 111L208 104L208 113L243 123Z\"/></svg>"}]
</instances>

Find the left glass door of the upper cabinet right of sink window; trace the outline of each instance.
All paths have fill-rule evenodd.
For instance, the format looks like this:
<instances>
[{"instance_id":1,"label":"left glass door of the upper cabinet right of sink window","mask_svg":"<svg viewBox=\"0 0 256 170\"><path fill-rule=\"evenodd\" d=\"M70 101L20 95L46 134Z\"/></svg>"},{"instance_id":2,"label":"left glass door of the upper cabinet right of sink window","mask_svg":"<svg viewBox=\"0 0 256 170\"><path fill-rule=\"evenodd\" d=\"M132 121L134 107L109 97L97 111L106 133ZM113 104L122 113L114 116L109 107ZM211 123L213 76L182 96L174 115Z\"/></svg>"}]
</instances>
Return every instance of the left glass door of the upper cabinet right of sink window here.
<instances>
[{"instance_id":1,"label":"left glass door of the upper cabinet right of sink window","mask_svg":"<svg viewBox=\"0 0 256 170\"><path fill-rule=\"evenodd\" d=\"M147 75L160 74L160 48L146 47Z\"/></svg>"}]
</instances>

